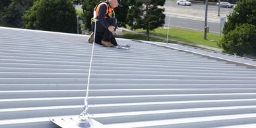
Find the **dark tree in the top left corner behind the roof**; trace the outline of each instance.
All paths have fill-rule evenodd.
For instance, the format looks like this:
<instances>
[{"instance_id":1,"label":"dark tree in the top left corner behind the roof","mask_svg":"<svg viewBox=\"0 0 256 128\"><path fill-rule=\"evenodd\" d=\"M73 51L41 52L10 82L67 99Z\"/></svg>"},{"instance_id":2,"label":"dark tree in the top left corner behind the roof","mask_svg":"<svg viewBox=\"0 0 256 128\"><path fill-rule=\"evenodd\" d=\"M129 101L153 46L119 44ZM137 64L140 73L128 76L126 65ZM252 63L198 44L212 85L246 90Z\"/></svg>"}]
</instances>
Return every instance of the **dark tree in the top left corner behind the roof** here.
<instances>
[{"instance_id":1,"label":"dark tree in the top left corner behind the roof","mask_svg":"<svg viewBox=\"0 0 256 128\"><path fill-rule=\"evenodd\" d=\"M34 1L35 0L1 0L0 23L21 28L21 16L32 7Z\"/></svg>"}]
</instances>

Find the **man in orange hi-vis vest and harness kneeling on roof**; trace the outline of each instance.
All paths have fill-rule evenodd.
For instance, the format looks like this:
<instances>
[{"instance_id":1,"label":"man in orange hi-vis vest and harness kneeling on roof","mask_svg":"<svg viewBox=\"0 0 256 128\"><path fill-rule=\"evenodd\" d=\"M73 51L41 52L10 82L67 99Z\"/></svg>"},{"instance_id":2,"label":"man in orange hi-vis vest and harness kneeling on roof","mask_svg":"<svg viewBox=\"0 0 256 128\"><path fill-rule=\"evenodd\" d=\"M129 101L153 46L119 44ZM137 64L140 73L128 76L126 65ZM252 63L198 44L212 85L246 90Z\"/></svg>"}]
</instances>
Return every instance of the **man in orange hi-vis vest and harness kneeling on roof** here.
<instances>
[{"instance_id":1,"label":"man in orange hi-vis vest and harness kneeling on roof","mask_svg":"<svg viewBox=\"0 0 256 128\"><path fill-rule=\"evenodd\" d=\"M94 41L94 25L96 21L95 42L106 47L115 47L117 42L112 32L117 28L117 19L115 18L115 7L122 6L121 0L100 1L95 7L94 18L92 18L92 34L88 40L89 43Z\"/></svg>"}]
</instances>

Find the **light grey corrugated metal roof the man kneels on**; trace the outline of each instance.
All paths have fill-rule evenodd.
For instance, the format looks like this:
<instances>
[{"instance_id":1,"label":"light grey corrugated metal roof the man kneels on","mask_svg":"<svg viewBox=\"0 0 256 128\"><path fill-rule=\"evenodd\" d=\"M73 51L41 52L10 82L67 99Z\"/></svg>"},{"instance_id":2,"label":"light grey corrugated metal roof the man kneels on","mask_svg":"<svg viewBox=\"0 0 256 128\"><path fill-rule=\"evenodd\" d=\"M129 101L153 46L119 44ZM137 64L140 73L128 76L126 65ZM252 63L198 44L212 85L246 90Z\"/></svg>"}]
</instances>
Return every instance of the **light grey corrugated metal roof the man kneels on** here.
<instances>
[{"instance_id":1,"label":"light grey corrugated metal roof the man kneels on","mask_svg":"<svg viewBox=\"0 0 256 128\"><path fill-rule=\"evenodd\" d=\"M92 48L87 39L0 28L1 128L53 128L50 117L82 112ZM97 121L122 128L256 127L252 59L175 44L118 42L131 49L94 49L88 102Z\"/></svg>"}]
</instances>

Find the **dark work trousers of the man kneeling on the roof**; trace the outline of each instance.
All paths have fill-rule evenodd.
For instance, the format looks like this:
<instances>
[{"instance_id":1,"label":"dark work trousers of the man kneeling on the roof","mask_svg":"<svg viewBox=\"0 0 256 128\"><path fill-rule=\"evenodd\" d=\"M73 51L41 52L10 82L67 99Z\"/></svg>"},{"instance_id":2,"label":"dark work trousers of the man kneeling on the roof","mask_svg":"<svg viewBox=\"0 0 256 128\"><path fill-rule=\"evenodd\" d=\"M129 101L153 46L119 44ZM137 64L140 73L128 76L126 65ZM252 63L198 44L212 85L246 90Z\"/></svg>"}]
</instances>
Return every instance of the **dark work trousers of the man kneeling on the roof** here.
<instances>
[{"instance_id":1,"label":"dark work trousers of the man kneeling on the roof","mask_svg":"<svg viewBox=\"0 0 256 128\"><path fill-rule=\"evenodd\" d=\"M110 25L115 26L115 29L117 28L117 19L116 18L107 18L107 21L110 23ZM92 24L92 31L94 32L94 25ZM97 44L101 44L102 40L106 42L111 42L114 46L117 46L117 42L115 40L115 37L113 36L112 32L108 30L105 26L103 26L100 21L96 22L96 35L95 35L95 42Z\"/></svg>"}]
</instances>

